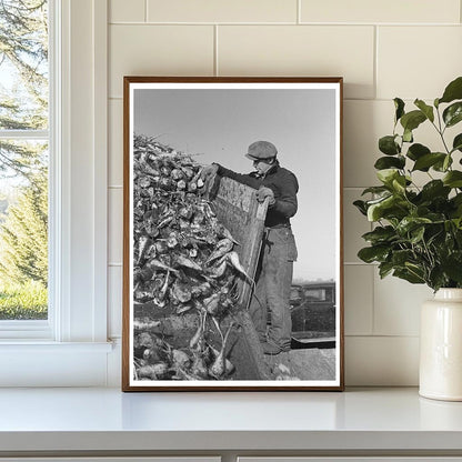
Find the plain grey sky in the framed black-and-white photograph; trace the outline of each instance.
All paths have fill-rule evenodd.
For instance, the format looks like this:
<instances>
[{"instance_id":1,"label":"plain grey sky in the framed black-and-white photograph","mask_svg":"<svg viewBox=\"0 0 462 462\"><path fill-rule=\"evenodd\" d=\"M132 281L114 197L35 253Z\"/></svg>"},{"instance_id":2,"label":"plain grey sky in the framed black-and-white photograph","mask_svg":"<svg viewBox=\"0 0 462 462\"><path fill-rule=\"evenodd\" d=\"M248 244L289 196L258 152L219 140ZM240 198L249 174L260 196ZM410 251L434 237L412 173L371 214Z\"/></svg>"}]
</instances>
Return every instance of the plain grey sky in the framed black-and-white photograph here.
<instances>
[{"instance_id":1,"label":"plain grey sky in the framed black-and-white photograph","mask_svg":"<svg viewBox=\"0 0 462 462\"><path fill-rule=\"evenodd\" d=\"M335 278L335 92L327 89L135 89L137 134L240 173L258 140L278 148L299 180L291 219L299 259L294 280Z\"/></svg>"}]
</instances>

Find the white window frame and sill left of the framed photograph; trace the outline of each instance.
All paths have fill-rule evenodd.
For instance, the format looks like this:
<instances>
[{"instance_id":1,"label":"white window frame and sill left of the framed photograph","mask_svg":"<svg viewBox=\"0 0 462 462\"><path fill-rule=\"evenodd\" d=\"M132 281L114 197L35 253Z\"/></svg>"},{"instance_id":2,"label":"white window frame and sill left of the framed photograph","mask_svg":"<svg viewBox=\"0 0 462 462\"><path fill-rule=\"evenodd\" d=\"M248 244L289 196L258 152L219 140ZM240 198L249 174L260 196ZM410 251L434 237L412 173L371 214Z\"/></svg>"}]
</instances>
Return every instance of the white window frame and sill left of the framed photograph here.
<instances>
[{"instance_id":1,"label":"white window frame and sill left of the framed photograph","mask_svg":"<svg viewBox=\"0 0 462 462\"><path fill-rule=\"evenodd\" d=\"M49 2L50 152L60 153L50 155L49 319L6 321L0 327L0 370L9 371L0 385L103 385L111 351L107 340L108 1ZM70 358L72 376L62 376Z\"/></svg>"}]
</instances>

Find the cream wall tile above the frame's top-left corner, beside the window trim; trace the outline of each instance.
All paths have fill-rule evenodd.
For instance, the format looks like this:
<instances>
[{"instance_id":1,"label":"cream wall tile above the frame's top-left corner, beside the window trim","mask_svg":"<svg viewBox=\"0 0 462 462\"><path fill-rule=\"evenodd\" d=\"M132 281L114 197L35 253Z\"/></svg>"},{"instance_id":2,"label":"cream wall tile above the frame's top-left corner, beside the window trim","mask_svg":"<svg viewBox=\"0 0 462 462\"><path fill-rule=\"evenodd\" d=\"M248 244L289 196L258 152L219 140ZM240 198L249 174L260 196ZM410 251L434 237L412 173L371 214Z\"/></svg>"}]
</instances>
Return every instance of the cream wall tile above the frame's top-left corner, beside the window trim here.
<instances>
[{"instance_id":1,"label":"cream wall tile above the frame's top-left corner, beside the window trim","mask_svg":"<svg viewBox=\"0 0 462 462\"><path fill-rule=\"evenodd\" d=\"M213 43L213 26L111 26L109 96L123 76L212 76Z\"/></svg>"}]
</instances>

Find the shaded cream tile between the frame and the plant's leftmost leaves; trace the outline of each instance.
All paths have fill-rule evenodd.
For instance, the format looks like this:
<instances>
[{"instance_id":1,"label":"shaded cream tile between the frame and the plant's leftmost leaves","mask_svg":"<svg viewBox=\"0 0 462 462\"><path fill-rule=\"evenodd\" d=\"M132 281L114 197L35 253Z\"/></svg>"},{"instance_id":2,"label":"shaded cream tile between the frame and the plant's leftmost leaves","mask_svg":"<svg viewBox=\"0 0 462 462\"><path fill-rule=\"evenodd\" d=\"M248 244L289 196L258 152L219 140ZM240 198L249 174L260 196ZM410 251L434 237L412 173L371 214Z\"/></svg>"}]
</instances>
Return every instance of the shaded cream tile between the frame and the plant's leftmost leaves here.
<instances>
[{"instance_id":1,"label":"shaded cream tile between the frame and the plant's leftmost leaves","mask_svg":"<svg viewBox=\"0 0 462 462\"><path fill-rule=\"evenodd\" d=\"M372 229L368 219L353 205L358 199L361 199L360 189L343 190L343 259L345 263L362 262L356 255L358 251L366 245L361 235Z\"/></svg>"}]
</instances>

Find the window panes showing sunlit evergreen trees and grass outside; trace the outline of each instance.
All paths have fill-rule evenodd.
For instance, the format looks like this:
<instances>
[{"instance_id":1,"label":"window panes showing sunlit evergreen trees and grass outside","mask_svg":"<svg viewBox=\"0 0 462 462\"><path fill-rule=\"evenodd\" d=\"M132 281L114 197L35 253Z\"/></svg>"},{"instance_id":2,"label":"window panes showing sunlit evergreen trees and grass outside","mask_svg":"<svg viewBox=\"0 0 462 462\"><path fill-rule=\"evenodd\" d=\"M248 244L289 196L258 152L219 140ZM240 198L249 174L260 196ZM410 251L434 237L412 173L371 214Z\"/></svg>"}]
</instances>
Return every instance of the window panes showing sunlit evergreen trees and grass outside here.
<instances>
[{"instance_id":1,"label":"window panes showing sunlit evergreen trees and grass outside","mask_svg":"<svg viewBox=\"0 0 462 462\"><path fill-rule=\"evenodd\" d=\"M48 7L0 0L0 321L48 319Z\"/></svg>"}]
</instances>

